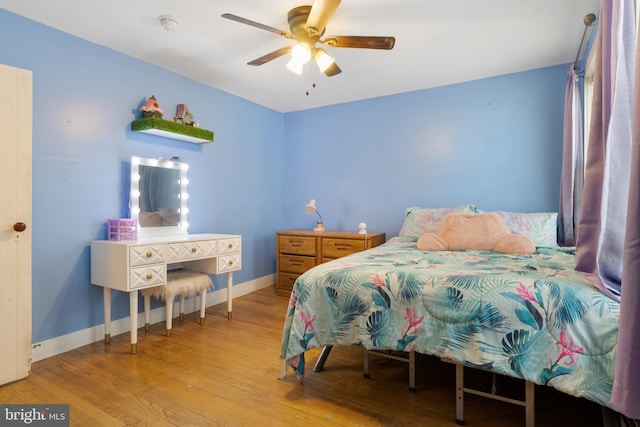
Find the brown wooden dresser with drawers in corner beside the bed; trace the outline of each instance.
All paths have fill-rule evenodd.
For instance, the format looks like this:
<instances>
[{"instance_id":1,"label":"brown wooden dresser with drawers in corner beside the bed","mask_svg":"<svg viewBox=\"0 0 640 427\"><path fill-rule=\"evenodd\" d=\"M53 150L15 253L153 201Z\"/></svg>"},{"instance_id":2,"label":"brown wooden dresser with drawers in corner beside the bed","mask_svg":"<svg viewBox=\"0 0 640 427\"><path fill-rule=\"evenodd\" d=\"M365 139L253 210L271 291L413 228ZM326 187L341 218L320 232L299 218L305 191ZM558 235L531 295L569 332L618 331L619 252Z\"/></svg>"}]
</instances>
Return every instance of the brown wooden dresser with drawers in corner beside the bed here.
<instances>
[{"instance_id":1,"label":"brown wooden dresser with drawers in corner beside the bed","mask_svg":"<svg viewBox=\"0 0 640 427\"><path fill-rule=\"evenodd\" d=\"M310 268L373 248L385 241L385 233L305 229L277 231L276 293L288 297L298 276Z\"/></svg>"}]
</instances>

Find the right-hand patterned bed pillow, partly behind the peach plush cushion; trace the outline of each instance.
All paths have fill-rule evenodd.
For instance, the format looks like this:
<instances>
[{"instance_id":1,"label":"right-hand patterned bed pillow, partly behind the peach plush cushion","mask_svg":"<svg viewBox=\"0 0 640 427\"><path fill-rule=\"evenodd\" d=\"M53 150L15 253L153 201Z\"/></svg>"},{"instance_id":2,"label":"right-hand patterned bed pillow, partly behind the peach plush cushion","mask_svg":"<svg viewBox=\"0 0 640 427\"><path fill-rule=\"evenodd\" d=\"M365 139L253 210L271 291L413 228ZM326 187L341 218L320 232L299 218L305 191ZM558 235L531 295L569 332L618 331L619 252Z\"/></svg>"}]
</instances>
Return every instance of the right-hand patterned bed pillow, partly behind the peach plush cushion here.
<instances>
[{"instance_id":1,"label":"right-hand patterned bed pillow, partly behind the peach plush cushion","mask_svg":"<svg viewBox=\"0 0 640 427\"><path fill-rule=\"evenodd\" d=\"M514 234L529 237L536 246L558 246L557 212L500 212L496 211Z\"/></svg>"}]
</instances>

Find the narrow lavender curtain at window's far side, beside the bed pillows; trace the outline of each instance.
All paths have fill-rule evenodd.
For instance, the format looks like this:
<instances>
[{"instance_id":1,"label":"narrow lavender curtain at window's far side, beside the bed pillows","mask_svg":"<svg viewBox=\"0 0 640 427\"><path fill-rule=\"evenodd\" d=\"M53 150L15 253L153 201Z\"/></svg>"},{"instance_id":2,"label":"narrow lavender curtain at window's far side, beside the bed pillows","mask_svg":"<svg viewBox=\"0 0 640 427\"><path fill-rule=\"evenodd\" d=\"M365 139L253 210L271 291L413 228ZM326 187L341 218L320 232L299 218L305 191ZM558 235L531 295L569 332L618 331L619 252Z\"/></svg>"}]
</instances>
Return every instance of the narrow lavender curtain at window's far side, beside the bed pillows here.
<instances>
[{"instance_id":1,"label":"narrow lavender curtain at window's far side, beside the bed pillows","mask_svg":"<svg viewBox=\"0 0 640 427\"><path fill-rule=\"evenodd\" d=\"M574 246L584 184L584 135L582 132L582 99L580 98L578 70L575 64L569 67L567 74L558 242L563 246Z\"/></svg>"}]
</instances>

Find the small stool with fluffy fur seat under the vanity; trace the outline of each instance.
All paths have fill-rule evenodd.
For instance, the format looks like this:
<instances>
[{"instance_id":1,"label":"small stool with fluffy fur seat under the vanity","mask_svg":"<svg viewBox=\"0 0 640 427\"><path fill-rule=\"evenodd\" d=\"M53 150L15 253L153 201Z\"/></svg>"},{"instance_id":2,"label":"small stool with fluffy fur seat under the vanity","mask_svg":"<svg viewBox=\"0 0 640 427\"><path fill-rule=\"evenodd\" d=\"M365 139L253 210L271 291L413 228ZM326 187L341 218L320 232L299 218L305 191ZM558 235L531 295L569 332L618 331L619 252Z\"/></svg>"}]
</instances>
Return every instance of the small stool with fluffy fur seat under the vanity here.
<instances>
[{"instance_id":1,"label":"small stool with fluffy fur seat under the vanity","mask_svg":"<svg viewBox=\"0 0 640 427\"><path fill-rule=\"evenodd\" d=\"M180 320L184 319L184 298L200 293L200 325L204 325L205 310L207 308L207 289L213 286L211 277L206 273L191 270L174 270L167 273L167 283L163 286L142 289L144 297L144 329L149 331L149 317L151 312L151 297L165 302L165 317L167 336L171 336L173 321L173 300L180 297Z\"/></svg>"}]
</instances>

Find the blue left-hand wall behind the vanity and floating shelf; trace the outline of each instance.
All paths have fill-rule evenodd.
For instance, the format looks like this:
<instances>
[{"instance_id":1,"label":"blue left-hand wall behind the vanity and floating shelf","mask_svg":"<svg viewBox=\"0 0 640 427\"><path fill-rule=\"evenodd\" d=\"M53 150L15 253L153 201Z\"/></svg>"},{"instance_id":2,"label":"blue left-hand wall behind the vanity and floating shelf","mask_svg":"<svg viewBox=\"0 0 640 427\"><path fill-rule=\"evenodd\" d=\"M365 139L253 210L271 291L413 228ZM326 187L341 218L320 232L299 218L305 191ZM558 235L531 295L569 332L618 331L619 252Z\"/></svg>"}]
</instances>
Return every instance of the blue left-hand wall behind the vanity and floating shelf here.
<instances>
[{"instance_id":1,"label":"blue left-hand wall behind the vanity and floating shelf","mask_svg":"<svg viewBox=\"0 0 640 427\"><path fill-rule=\"evenodd\" d=\"M189 164L189 231L243 236L234 283L273 274L273 233L284 226L281 113L1 9L0 62L33 71L34 342L103 322L89 245L127 212L132 155ZM165 118L186 103L214 142L131 132L151 95ZM128 316L127 296L113 297L113 318Z\"/></svg>"}]
</instances>

